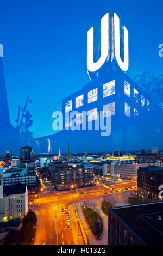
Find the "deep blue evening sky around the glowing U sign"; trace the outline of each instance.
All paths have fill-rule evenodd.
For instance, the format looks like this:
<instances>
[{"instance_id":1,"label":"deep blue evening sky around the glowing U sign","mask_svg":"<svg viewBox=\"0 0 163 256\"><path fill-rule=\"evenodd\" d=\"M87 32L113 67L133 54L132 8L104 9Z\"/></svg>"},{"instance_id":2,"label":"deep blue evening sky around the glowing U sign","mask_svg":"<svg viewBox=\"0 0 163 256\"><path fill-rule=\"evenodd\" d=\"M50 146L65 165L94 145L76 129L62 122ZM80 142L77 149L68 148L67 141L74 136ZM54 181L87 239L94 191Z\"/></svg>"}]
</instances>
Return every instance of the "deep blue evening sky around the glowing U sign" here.
<instances>
[{"instance_id":1,"label":"deep blue evening sky around the glowing U sign","mask_svg":"<svg viewBox=\"0 0 163 256\"><path fill-rule=\"evenodd\" d=\"M0 1L0 43L12 125L18 105L29 95L35 137L50 135L52 113L62 98L89 82L86 72L86 33L113 11L129 31L129 69L163 73L162 0L5 0Z\"/></svg>"}]
</instances>

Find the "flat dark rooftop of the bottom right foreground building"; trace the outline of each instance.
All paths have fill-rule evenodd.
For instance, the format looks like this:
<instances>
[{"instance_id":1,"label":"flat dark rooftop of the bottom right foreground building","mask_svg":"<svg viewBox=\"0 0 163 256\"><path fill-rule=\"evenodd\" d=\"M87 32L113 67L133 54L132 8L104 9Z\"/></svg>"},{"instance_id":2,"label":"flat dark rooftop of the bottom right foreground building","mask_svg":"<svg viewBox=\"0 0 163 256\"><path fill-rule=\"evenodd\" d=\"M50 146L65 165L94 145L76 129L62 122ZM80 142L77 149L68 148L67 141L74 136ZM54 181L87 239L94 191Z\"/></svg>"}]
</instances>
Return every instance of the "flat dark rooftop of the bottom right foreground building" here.
<instances>
[{"instance_id":1,"label":"flat dark rooftop of the bottom right foreground building","mask_svg":"<svg viewBox=\"0 0 163 256\"><path fill-rule=\"evenodd\" d=\"M163 202L111 208L146 245L163 244ZM157 216L161 216L158 220Z\"/></svg>"}]
</instances>

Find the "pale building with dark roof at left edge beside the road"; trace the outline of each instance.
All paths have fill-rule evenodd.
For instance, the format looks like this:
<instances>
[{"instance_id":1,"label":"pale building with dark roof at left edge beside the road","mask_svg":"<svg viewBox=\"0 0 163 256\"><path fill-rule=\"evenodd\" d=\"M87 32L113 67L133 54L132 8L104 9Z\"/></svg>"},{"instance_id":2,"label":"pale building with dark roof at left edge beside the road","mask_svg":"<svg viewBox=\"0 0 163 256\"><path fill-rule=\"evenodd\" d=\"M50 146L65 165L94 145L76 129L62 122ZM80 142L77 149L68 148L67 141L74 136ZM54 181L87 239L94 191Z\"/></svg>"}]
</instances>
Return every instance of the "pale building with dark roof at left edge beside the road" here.
<instances>
[{"instance_id":1,"label":"pale building with dark roof at left edge beside the road","mask_svg":"<svg viewBox=\"0 0 163 256\"><path fill-rule=\"evenodd\" d=\"M0 222L19 220L28 212L27 186L0 186Z\"/></svg>"}]
</instances>

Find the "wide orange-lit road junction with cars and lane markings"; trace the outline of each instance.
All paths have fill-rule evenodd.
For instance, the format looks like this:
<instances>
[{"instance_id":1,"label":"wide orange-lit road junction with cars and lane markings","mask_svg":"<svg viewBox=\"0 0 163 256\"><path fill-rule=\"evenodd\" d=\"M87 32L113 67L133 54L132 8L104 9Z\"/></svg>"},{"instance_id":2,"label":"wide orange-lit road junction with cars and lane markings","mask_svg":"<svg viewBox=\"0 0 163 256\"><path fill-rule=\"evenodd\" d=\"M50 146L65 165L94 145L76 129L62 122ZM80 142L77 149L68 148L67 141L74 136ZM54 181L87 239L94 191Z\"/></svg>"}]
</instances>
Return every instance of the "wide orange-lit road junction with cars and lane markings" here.
<instances>
[{"instance_id":1,"label":"wide orange-lit road junction with cars and lane markings","mask_svg":"<svg viewBox=\"0 0 163 256\"><path fill-rule=\"evenodd\" d=\"M131 182L135 184L135 182ZM130 185L130 184L129 184ZM28 207L37 216L37 227L35 234L35 245L84 245L74 208L80 203L86 205L101 205L103 200L108 200L111 204L115 200L122 205L131 191L124 190L128 184L112 185L111 188L118 190L108 190L101 186L82 188L78 191L55 192L53 188L46 184L45 190L38 196L28 197ZM119 191L123 189L123 191ZM83 194L80 194L82 191ZM132 190L133 191L133 190ZM128 196L126 196L128 194ZM67 227L65 207L68 208L71 228ZM64 212L61 209L64 209Z\"/></svg>"}]
</instances>

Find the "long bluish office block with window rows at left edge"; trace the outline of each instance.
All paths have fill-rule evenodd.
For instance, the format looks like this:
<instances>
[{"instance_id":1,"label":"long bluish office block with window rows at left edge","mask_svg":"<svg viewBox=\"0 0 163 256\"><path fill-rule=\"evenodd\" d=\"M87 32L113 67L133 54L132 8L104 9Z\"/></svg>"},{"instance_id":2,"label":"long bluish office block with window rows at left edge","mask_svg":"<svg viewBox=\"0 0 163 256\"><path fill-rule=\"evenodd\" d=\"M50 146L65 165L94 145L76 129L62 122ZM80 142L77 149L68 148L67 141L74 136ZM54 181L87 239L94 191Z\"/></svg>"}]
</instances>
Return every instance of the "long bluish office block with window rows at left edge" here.
<instances>
[{"instance_id":1,"label":"long bluish office block with window rows at left edge","mask_svg":"<svg viewBox=\"0 0 163 256\"><path fill-rule=\"evenodd\" d=\"M7 169L2 176L2 186L16 186L18 183L22 185L36 185L36 173L34 167L32 168L18 168L12 167Z\"/></svg>"}]
</instances>

